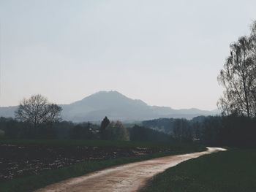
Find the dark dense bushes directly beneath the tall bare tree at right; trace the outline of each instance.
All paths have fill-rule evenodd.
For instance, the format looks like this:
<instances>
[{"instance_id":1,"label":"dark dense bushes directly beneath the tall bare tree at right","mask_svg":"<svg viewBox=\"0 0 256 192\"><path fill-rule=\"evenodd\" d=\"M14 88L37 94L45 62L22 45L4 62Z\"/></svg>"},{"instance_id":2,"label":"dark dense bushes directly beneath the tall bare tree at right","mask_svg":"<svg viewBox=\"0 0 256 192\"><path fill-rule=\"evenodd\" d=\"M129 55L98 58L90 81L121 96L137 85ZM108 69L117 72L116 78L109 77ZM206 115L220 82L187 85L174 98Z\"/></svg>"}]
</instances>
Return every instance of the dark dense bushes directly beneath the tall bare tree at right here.
<instances>
[{"instance_id":1,"label":"dark dense bushes directly beneath the tall bare tree at right","mask_svg":"<svg viewBox=\"0 0 256 192\"><path fill-rule=\"evenodd\" d=\"M206 145L256 147L256 118L209 117L199 125L202 142Z\"/></svg>"}]
</instances>

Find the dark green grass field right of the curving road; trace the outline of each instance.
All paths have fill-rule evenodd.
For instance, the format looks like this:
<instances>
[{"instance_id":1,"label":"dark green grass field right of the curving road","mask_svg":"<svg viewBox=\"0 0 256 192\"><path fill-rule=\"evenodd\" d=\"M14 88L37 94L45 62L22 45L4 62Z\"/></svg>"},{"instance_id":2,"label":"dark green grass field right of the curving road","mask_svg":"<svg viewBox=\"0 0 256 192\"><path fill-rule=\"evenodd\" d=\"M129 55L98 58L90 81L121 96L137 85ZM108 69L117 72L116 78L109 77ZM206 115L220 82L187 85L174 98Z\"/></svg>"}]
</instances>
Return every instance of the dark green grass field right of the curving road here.
<instances>
[{"instance_id":1,"label":"dark green grass field right of the curving road","mask_svg":"<svg viewBox=\"0 0 256 192\"><path fill-rule=\"evenodd\" d=\"M256 150L204 155L167 169L141 191L251 192L256 188Z\"/></svg>"}]
</instances>

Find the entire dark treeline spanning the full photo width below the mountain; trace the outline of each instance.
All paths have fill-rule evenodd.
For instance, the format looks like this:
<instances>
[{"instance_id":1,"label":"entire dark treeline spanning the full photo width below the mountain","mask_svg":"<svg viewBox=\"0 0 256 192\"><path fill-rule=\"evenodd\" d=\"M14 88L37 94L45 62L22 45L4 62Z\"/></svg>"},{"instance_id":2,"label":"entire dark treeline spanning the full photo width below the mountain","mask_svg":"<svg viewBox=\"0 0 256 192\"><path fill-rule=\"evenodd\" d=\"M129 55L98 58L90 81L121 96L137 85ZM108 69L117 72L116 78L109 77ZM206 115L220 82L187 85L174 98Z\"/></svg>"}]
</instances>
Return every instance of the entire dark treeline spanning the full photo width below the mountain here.
<instances>
[{"instance_id":1,"label":"entire dark treeline spanning the full photo width below the mountain","mask_svg":"<svg viewBox=\"0 0 256 192\"><path fill-rule=\"evenodd\" d=\"M208 146L256 147L256 118L200 116L187 119L146 120L142 126L102 120L101 125L61 121L41 124L0 118L0 139L104 139L131 141L200 142Z\"/></svg>"}]
</instances>

